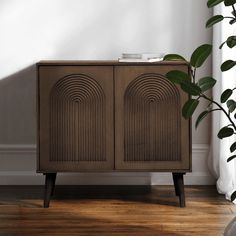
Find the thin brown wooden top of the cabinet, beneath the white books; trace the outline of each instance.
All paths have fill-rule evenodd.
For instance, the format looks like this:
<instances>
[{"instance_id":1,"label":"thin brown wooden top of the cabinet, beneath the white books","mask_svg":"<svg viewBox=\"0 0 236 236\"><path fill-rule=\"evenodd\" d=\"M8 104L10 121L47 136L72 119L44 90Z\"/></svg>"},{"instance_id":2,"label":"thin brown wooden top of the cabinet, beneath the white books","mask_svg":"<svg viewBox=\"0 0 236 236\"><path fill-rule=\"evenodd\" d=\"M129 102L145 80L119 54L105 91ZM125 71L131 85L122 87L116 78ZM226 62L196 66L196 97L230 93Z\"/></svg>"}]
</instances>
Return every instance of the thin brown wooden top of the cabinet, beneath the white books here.
<instances>
[{"instance_id":1,"label":"thin brown wooden top of the cabinet, beneath the white books","mask_svg":"<svg viewBox=\"0 0 236 236\"><path fill-rule=\"evenodd\" d=\"M159 61L159 62L118 62L118 60L43 60L37 63L38 66L123 66L123 65L188 65L184 61Z\"/></svg>"}]
</instances>

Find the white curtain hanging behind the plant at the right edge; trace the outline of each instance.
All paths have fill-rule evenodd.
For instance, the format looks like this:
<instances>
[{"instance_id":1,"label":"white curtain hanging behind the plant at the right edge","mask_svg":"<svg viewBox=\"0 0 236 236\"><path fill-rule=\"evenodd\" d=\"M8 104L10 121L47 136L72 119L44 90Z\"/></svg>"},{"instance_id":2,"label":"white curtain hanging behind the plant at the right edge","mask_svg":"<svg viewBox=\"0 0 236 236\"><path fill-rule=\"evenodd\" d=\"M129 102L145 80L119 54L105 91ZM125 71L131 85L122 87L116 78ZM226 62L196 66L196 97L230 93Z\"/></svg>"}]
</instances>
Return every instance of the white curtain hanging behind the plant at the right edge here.
<instances>
[{"instance_id":1,"label":"white curtain hanging behind the plant at the right edge","mask_svg":"<svg viewBox=\"0 0 236 236\"><path fill-rule=\"evenodd\" d=\"M225 7L223 4L214 8L214 15L231 15L232 8ZM221 72L221 64L229 59L236 60L235 48L230 49L227 45L220 50L219 45L228 36L236 35L236 23L229 25L228 20L218 23L213 27L213 77L217 80L217 85L213 89L213 99L220 101L221 93L227 88L236 87L236 67ZM232 96L236 100L236 91ZM226 199L230 200L231 194L236 191L236 160L227 162L227 158L233 155L230 153L230 145L236 141L236 137L219 140L217 133L219 129L229 122L222 112L212 113L212 138L211 152L209 156L209 167L217 178L217 189L219 193L225 194ZM234 201L236 203L236 201Z\"/></svg>"}]
</instances>

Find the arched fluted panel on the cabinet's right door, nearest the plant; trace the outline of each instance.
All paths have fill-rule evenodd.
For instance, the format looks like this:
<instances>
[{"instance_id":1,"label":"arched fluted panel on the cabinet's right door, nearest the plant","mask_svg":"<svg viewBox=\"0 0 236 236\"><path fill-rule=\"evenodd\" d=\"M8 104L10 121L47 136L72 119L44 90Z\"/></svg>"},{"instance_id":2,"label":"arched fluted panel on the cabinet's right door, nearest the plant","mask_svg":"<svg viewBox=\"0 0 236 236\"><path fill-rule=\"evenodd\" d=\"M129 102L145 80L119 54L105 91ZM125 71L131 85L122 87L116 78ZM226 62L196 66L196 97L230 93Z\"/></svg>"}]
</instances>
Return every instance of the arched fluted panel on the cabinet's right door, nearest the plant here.
<instances>
[{"instance_id":1,"label":"arched fluted panel on the cabinet's right door, nearest the plant","mask_svg":"<svg viewBox=\"0 0 236 236\"><path fill-rule=\"evenodd\" d=\"M124 95L125 161L180 160L180 95L158 74L134 79Z\"/></svg>"}]
</instances>

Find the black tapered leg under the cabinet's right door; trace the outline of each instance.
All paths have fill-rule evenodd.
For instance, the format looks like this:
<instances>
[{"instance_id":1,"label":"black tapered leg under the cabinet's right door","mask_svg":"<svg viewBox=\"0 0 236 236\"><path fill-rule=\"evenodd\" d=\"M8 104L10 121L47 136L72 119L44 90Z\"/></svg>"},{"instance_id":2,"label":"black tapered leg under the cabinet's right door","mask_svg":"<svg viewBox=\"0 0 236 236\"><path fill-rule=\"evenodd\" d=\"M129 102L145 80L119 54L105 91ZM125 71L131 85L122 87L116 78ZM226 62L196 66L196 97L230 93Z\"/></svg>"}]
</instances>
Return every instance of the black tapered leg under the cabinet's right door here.
<instances>
[{"instance_id":1,"label":"black tapered leg under the cabinet's right door","mask_svg":"<svg viewBox=\"0 0 236 236\"><path fill-rule=\"evenodd\" d=\"M184 174L185 173L172 173L175 185L175 194L176 196L179 196L180 207L185 207Z\"/></svg>"}]
</instances>

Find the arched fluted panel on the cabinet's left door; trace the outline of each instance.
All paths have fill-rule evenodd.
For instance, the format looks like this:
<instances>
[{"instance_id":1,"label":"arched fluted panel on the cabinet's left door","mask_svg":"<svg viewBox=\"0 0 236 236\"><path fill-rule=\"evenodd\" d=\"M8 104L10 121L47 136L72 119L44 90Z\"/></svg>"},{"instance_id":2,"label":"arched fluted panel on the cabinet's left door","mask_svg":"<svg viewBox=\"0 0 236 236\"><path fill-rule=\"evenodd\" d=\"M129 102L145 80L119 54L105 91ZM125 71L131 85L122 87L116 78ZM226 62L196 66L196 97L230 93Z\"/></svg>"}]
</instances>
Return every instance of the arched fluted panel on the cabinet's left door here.
<instances>
[{"instance_id":1,"label":"arched fluted panel on the cabinet's left door","mask_svg":"<svg viewBox=\"0 0 236 236\"><path fill-rule=\"evenodd\" d=\"M64 77L50 94L50 161L106 160L105 94L83 74Z\"/></svg>"}]
</instances>

